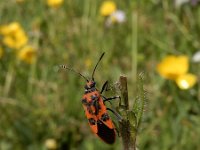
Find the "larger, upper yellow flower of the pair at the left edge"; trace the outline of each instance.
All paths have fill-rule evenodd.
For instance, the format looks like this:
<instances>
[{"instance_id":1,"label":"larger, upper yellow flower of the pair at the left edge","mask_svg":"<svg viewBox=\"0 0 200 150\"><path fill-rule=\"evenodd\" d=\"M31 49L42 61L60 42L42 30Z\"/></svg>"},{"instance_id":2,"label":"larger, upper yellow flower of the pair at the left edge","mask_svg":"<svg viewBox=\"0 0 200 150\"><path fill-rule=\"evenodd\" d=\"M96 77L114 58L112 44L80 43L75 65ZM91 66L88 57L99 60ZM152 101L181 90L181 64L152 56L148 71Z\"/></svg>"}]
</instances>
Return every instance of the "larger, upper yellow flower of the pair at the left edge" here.
<instances>
[{"instance_id":1,"label":"larger, upper yellow flower of the pair at the left edge","mask_svg":"<svg viewBox=\"0 0 200 150\"><path fill-rule=\"evenodd\" d=\"M0 33L4 35L3 43L10 48L19 49L28 42L26 33L17 22L1 26Z\"/></svg>"}]
</instances>

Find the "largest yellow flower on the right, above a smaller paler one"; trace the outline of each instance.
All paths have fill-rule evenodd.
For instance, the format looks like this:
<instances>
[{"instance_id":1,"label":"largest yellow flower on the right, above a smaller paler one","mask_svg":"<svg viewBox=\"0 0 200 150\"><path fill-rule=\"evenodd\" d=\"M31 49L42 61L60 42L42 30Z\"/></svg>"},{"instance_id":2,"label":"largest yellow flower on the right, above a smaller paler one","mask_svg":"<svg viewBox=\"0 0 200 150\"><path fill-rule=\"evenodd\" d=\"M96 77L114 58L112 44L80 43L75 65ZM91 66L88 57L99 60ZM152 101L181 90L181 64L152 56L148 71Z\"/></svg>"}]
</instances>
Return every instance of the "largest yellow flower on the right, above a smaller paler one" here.
<instances>
[{"instance_id":1,"label":"largest yellow flower on the right, above a smaller paler one","mask_svg":"<svg viewBox=\"0 0 200 150\"><path fill-rule=\"evenodd\" d=\"M158 73L166 78L175 80L178 76L187 73L189 67L187 56L167 56L157 65Z\"/></svg>"}]
</instances>

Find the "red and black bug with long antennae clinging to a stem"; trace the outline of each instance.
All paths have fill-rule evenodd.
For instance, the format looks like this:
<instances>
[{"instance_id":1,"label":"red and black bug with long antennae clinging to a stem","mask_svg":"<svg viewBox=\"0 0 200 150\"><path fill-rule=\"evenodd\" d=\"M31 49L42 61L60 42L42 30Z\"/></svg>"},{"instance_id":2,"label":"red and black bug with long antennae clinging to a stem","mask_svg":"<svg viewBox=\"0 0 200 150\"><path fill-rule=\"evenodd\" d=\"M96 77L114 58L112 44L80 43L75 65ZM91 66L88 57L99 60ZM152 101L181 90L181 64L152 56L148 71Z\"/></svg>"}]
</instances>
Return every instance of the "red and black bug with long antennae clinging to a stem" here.
<instances>
[{"instance_id":1,"label":"red and black bug with long antennae clinging to a stem","mask_svg":"<svg viewBox=\"0 0 200 150\"><path fill-rule=\"evenodd\" d=\"M105 101L109 101L112 99L119 98L119 96L114 96L111 98L105 98L102 96L102 92L106 89L108 85L108 81L104 83L102 86L101 91L99 91L96 88L96 82L94 80L94 73L95 70L103 58L104 53L99 58L97 64L94 67L94 70L92 72L91 79L87 79L85 76L83 76L81 73L76 72L75 70L66 67L65 65L61 65L61 68L71 70L77 74L79 74L81 77L83 77L86 80L85 85L85 92L82 97L82 105L85 110L85 115L88 119L89 125L93 131L98 137L100 137L104 142L108 144L113 144L115 142L115 126L107 112L107 110L110 110L113 112L118 118L120 116L110 108L107 108L105 106Z\"/></svg>"}]
</instances>

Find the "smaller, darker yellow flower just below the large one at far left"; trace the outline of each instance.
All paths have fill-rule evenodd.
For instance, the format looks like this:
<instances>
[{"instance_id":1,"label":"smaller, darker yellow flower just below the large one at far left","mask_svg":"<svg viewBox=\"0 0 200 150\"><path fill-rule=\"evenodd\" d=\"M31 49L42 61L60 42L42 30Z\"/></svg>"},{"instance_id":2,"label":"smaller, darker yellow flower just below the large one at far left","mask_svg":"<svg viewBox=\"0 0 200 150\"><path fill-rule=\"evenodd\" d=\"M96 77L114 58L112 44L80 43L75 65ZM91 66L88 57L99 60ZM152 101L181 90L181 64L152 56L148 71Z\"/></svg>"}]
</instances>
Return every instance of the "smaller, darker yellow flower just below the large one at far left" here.
<instances>
[{"instance_id":1,"label":"smaller, darker yellow flower just below the large one at far left","mask_svg":"<svg viewBox=\"0 0 200 150\"><path fill-rule=\"evenodd\" d=\"M31 64L36 59L37 51L30 45L25 46L18 52L18 58L22 61L25 61L28 64Z\"/></svg>"}]
</instances>

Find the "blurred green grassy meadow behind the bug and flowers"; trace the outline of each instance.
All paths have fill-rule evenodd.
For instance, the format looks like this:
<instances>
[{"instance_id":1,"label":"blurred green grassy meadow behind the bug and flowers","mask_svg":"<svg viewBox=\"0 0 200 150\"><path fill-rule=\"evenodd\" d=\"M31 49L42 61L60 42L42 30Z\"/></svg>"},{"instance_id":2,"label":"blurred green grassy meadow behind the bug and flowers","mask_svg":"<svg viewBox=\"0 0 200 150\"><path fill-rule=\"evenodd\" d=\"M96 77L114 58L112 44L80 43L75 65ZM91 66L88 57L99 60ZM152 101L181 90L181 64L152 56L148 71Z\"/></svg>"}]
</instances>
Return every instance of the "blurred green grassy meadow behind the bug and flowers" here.
<instances>
[{"instance_id":1,"label":"blurred green grassy meadow behind the bug and flowers","mask_svg":"<svg viewBox=\"0 0 200 150\"><path fill-rule=\"evenodd\" d=\"M36 50L26 63L0 35L1 150L121 150L120 137L109 146L91 132L81 104L84 80L56 67L66 64L90 76L102 52L97 87L126 75L131 105L137 75L144 73L148 101L140 150L200 149L200 83L181 90L156 72L166 55L191 60L200 49L200 5L115 0L125 20L109 23L100 13L103 2L65 0L55 8L46 0L0 1L0 25L18 22ZM199 78L200 64L190 61L190 72Z\"/></svg>"}]
</instances>

